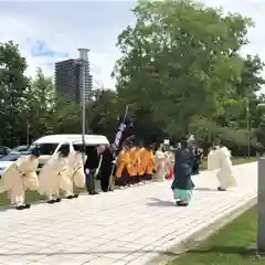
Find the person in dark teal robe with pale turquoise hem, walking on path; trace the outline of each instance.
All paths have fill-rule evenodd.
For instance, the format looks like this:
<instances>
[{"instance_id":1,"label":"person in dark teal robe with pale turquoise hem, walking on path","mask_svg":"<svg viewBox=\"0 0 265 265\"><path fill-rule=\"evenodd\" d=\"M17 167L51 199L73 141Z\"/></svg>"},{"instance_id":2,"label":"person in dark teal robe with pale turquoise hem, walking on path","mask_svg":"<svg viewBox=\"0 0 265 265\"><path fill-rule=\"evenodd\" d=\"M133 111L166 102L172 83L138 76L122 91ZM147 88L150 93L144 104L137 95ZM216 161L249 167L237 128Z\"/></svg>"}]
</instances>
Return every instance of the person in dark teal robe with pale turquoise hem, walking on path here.
<instances>
[{"instance_id":1,"label":"person in dark teal robe with pale turquoise hem, walking on path","mask_svg":"<svg viewBox=\"0 0 265 265\"><path fill-rule=\"evenodd\" d=\"M195 157L192 149L189 148L189 142L183 139L181 148L174 155L174 180L171 186L173 199L178 206L188 206L192 198L194 184L191 174L194 159Z\"/></svg>"}]
</instances>

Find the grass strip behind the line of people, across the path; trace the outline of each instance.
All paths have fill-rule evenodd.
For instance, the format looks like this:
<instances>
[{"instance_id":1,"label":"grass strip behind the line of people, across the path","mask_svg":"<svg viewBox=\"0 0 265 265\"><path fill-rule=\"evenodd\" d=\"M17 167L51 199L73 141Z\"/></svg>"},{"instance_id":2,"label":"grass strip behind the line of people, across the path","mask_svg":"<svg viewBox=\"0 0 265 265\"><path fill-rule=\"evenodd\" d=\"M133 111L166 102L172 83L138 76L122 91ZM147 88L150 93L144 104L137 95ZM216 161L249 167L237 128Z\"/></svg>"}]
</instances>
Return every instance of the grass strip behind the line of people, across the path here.
<instances>
[{"instance_id":1,"label":"grass strip behind the line of people, across the path","mask_svg":"<svg viewBox=\"0 0 265 265\"><path fill-rule=\"evenodd\" d=\"M233 159L233 163L239 165L239 163L254 162L255 160L256 160L256 158L251 158L251 159L235 158L235 159ZM200 168L206 169L206 161L203 161L203 163L201 165ZM96 181L96 188L99 188L98 181ZM85 189L76 190L77 193L83 192L83 191L85 191ZM40 195L36 191L26 191L25 198L26 198L26 202L29 202L29 203L45 199L43 195ZM4 205L9 205L9 199L8 199L7 192L0 193L0 206L4 206Z\"/></svg>"}]
</instances>

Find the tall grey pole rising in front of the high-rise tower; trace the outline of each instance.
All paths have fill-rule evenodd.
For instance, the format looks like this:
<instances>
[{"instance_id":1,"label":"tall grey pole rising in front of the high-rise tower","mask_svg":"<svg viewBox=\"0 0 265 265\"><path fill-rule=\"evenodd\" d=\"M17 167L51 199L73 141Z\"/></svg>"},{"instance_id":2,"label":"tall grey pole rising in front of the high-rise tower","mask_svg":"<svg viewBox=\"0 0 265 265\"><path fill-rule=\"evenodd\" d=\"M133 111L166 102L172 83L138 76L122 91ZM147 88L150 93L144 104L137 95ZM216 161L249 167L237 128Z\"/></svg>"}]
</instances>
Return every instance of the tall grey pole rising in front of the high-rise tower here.
<instances>
[{"instance_id":1,"label":"tall grey pole rising in front of the high-rise tower","mask_svg":"<svg viewBox=\"0 0 265 265\"><path fill-rule=\"evenodd\" d=\"M82 142L83 146L85 147L85 121L86 121L86 113L85 113L85 107L86 107L86 71L88 67L88 49L81 47L78 49L80 52L80 62L81 66L83 68L82 73ZM83 152L83 162L85 163L85 153Z\"/></svg>"}]
</instances>

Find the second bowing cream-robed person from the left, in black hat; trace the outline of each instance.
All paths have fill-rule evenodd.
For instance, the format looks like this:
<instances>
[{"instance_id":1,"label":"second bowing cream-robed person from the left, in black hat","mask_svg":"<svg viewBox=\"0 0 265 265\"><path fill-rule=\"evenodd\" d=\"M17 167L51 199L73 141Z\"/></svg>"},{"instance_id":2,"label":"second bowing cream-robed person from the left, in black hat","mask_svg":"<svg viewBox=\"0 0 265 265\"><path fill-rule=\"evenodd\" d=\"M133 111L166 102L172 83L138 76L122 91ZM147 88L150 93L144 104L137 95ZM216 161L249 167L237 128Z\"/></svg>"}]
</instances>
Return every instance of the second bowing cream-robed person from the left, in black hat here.
<instances>
[{"instance_id":1,"label":"second bowing cream-robed person from the left, in black hat","mask_svg":"<svg viewBox=\"0 0 265 265\"><path fill-rule=\"evenodd\" d=\"M49 204L61 202L60 191L66 191L71 186L68 155L70 147L62 146L61 150L54 153L40 171L39 192L47 198Z\"/></svg>"}]
</instances>

